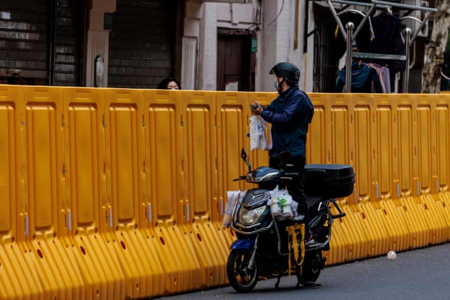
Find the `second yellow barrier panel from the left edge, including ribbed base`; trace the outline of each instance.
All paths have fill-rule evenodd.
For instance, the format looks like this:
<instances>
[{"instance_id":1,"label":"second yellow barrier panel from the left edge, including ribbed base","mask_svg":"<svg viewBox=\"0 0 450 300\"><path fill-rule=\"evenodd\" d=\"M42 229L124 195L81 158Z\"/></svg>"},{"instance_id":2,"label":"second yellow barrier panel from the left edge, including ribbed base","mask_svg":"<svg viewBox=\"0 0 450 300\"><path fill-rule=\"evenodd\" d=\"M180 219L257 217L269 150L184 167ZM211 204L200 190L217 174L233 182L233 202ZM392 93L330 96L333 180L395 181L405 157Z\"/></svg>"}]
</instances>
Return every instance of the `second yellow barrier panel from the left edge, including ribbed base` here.
<instances>
[{"instance_id":1,"label":"second yellow barrier panel from the left edge, including ribbed base","mask_svg":"<svg viewBox=\"0 0 450 300\"><path fill-rule=\"evenodd\" d=\"M83 282L63 237L65 208L61 88L24 88L29 251L44 297L77 298ZM58 236L60 235L60 236Z\"/></svg>"}]
</instances>

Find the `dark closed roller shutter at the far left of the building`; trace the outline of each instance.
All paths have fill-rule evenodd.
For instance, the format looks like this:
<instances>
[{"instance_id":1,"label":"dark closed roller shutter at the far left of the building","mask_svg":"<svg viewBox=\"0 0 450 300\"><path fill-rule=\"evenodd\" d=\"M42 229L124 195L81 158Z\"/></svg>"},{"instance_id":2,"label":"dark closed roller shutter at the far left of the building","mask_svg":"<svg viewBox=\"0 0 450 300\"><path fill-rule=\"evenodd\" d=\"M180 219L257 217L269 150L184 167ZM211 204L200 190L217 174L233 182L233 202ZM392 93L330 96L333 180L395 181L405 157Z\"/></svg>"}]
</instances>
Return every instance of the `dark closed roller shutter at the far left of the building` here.
<instances>
[{"instance_id":1,"label":"dark closed roller shutter at the far left of the building","mask_svg":"<svg viewBox=\"0 0 450 300\"><path fill-rule=\"evenodd\" d=\"M0 1L0 77L47 84L49 4L46 0ZM37 80L35 79L37 78Z\"/></svg>"}]
</instances>

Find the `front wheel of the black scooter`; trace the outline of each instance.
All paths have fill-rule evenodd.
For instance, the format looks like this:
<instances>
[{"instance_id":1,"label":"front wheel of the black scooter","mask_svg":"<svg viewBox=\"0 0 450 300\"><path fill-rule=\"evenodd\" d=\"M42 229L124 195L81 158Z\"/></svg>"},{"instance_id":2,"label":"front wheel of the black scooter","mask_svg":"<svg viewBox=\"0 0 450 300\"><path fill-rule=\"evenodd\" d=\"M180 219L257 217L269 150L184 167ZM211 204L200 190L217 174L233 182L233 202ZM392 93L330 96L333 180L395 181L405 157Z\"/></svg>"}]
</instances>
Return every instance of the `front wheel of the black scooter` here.
<instances>
[{"instance_id":1,"label":"front wheel of the black scooter","mask_svg":"<svg viewBox=\"0 0 450 300\"><path fill-rule=\"evenodd\" d=\"M251 291L258 282L256 261L252 269L248 269L251 254L248 252L232 251L227 261L227 275L231 286L240 292Z\"/></svg>"}]
</instances>

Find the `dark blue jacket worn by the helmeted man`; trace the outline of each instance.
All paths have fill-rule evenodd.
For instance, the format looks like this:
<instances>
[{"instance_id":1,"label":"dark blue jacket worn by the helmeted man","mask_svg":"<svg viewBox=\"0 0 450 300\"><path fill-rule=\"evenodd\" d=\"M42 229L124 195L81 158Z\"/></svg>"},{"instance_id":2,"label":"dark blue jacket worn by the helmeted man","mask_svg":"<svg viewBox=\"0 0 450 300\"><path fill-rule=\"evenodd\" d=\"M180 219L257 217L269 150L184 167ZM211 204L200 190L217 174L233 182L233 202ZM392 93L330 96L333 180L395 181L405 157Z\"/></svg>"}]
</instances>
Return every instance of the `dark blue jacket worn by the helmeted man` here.
<instances>
[{"instance_id":1,"label":"dark blue jacket worn by the helmeted man","mask_svg":"<svg viewBox=\"0 0 450 300\"><path fill-rule=\"evenodd\" d=\"M262 111L261 117L272 123L271 157L283 151L305 156L306 133L313 114L309 97L298 87L286 90Z\"/></svg>"}]
</instances>

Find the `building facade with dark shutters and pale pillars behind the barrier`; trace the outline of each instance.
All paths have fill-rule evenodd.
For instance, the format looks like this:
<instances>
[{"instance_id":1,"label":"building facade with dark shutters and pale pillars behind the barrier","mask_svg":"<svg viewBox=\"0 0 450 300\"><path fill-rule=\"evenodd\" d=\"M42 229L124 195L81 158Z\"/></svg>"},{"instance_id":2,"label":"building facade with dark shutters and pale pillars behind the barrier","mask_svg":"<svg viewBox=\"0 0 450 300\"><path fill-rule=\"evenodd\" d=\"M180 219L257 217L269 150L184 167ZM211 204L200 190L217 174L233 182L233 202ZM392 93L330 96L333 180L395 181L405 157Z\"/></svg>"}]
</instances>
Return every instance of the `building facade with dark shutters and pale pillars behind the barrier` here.
<instances>
[{"instance_id":1,"label":"building facade with dark shutters and pale pillars behind the barrier","mask_svg":"<svg viewBox=\"0 0 450 300\"><path fill-rule=\"evenodd\" d=\"M412 1L419 0L403 0ZM330 92L338 62L332 56L334 20L325 4L5 0L0 83L156 88L173 76L183 89L272 91L269 70L289 61L300 68L300 88ZM419 58L427 41L422 35L415 45L413 88L420 86Z\"/></svg>"}]
</instances>

